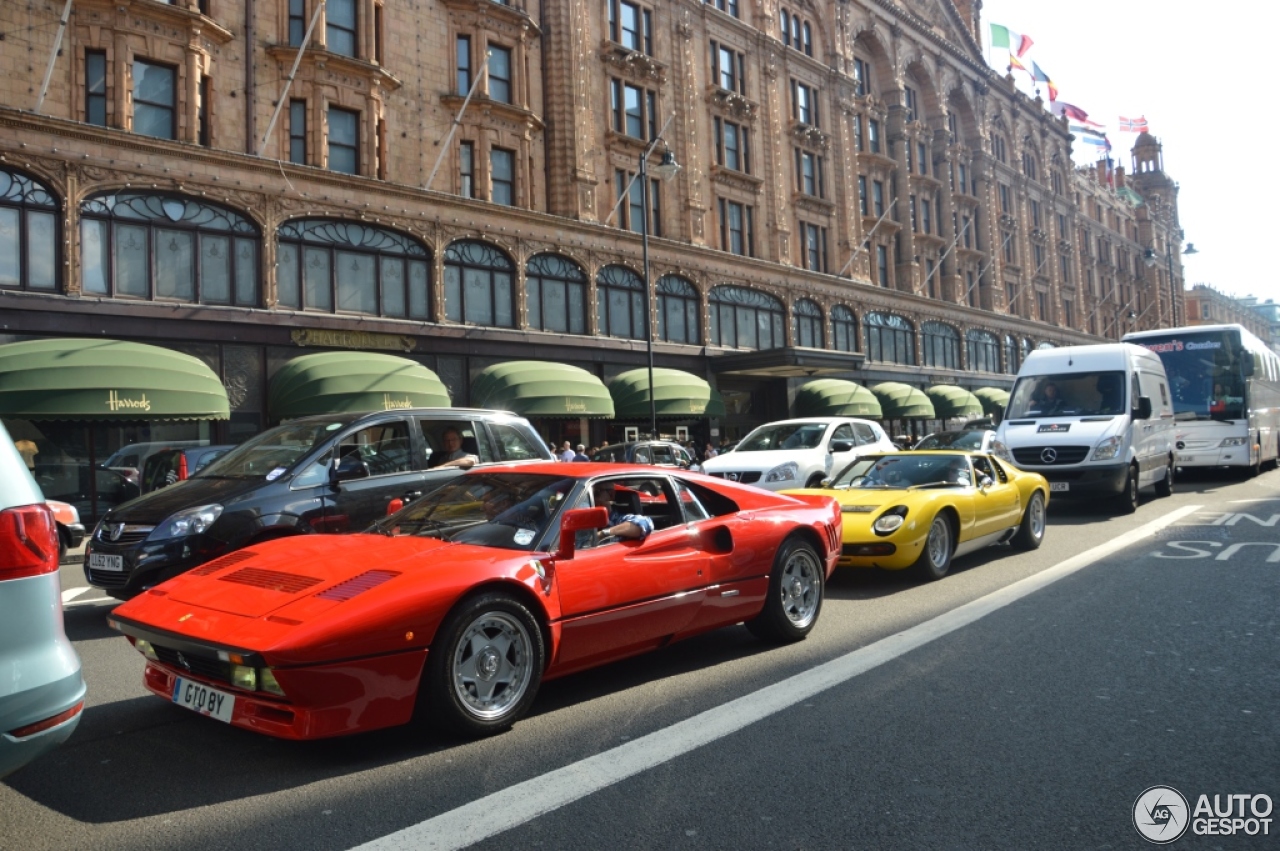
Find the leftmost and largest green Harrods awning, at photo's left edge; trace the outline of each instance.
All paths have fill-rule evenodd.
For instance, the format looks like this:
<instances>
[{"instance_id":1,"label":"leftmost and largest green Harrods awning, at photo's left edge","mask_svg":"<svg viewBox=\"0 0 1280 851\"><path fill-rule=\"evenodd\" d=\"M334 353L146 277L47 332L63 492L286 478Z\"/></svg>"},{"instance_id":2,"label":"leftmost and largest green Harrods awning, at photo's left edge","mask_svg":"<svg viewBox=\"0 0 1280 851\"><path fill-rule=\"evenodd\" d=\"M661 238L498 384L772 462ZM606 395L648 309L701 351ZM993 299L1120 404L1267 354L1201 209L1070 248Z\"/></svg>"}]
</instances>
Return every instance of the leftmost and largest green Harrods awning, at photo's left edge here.
<instances>
[{"instance_id":1,"label":"leftmost and largest green Harrods awning, at photo's left edge","mask_svg":"<svg viewBox=\"0 0 1280 851\"><path fill-rule=\"evenodd\" d=\"M227 388L189 354L122 340L0 346L0 416L17 420L228 420Z\"/></svg>"}]
</instances>

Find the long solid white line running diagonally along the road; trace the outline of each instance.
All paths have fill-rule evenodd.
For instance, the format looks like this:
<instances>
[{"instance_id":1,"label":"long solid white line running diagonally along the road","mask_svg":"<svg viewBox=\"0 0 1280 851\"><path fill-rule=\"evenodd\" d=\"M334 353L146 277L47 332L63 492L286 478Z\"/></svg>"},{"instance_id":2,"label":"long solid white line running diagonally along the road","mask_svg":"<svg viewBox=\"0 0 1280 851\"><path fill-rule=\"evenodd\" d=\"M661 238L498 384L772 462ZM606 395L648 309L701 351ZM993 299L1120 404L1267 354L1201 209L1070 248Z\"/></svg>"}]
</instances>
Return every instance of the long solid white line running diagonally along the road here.
<instances>
[{"instance_id":1,"label":"long solid white line running diagonally along the road","mask_svg":"<svg viewBox=\"0 0 1280 851\"><path fill-rule=\"evenodd\" d=\"M996 612L1203 508L1187 505L932 621L612 750L517 783L352 851L453 851L572 804L782 712Z\"/></svg>"}]
</instances>

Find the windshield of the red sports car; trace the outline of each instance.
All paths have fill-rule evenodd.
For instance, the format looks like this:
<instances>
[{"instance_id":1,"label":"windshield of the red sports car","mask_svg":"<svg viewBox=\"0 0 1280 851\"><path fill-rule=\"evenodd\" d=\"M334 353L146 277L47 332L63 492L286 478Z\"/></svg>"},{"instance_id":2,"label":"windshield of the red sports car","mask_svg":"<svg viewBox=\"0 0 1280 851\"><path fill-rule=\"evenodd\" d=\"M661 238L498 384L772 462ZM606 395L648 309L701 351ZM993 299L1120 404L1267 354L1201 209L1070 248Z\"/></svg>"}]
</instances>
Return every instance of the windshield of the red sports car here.
<instances>
[{"instance_id":1,"label":"windshield of the red sports car","mask_svg":"<svg viewBox=\"0 0 1280 851\"><path fill-rule=\"evenodd\" d=\"M417 535L532 550L577 479L529 473L461 476L374 525L384 535Z\"/></svg>"}]
</instances>

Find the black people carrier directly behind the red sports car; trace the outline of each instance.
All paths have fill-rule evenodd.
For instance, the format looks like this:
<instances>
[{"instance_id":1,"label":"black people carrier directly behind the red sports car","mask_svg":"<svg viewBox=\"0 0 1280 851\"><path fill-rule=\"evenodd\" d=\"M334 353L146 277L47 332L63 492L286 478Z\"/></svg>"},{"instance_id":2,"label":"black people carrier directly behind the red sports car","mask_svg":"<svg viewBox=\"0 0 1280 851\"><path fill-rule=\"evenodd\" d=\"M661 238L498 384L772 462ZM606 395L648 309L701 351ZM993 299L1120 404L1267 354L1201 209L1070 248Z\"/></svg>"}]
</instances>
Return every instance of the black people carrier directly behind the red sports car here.
<instances>
[{"instance_id":1,"label":"black people carrier directly behind the red sports car","mask_svg":"<svg viewBox=\"0 0 1280 851\"><path fill-rule=\"evenodd\" d=\"M351 532L463 472L440 466L445 433L476 463L554 461L529 421L500 411L411 408L301 417L269 429L191 479L108 512L84 576L128 599L248 544ZM457 452L454 449L453 452Z\"/></svg>"}]
</instances>

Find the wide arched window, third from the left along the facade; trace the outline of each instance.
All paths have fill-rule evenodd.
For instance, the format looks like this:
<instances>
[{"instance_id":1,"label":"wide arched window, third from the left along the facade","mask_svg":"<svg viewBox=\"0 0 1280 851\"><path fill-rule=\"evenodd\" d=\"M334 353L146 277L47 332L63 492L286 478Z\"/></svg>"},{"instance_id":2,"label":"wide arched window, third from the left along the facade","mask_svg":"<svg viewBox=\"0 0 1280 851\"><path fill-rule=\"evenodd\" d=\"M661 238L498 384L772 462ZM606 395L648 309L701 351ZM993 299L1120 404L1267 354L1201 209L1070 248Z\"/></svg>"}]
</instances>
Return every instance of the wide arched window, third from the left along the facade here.
<instances>
[{"instance_id":1,"label":"wide arched window, third from the left along the facade","mask_svg":"<svg viewBox=\"0 0 1280 851\"><path fill-rule=\"evenodd\" d=\"M285 221L275 235L282 307L430 319L430 260L415 239L333 219Z\"/></svg>"}]
</instances>

